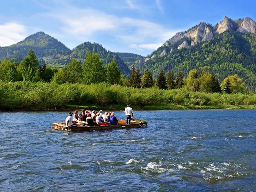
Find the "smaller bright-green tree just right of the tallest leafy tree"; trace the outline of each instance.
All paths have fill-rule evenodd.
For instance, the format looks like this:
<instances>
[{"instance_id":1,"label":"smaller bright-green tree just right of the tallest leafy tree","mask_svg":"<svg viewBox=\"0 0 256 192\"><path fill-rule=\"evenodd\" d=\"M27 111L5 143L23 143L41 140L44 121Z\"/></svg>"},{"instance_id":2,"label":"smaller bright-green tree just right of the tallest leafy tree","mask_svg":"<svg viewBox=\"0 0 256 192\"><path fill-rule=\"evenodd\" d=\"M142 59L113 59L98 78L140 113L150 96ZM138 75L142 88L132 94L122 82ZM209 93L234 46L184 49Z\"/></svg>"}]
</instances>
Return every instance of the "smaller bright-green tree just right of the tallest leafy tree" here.
<instances>
[{"instance_id":1,"label":"smaller bright-green tree just right of the tallest leafy tree","mask_svg":"<svg viewBox=\"0 0 256 192\"><path fill-rule=\"evenodd\" d=\"M106 82L111 85L121 84L120 70L114 60L109 62L106 66Z\"/></svg>"}]
</instances>

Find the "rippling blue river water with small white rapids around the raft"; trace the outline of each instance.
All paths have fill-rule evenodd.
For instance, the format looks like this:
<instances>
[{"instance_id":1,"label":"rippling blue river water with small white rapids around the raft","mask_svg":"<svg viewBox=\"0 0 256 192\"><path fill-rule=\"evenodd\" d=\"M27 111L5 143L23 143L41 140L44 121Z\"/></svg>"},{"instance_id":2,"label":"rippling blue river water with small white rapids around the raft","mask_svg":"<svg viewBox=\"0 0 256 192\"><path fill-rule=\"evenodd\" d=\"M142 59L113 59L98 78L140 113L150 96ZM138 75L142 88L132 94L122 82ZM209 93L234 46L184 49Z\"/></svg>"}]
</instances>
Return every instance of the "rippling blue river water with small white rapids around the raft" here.
<instances>
[{"instance_id":1,"label":"rippling blue river water with small white rapids around the raft","mask_svg":"<svg viewBox=\"0 0 256 192\"><path fill-rule=\"evenodd\" d=\"M1 192L256 191L256 110L135 111L147 127L76 133L36 133L68 112L0 115Z\"/></svg>"}]
</instances>

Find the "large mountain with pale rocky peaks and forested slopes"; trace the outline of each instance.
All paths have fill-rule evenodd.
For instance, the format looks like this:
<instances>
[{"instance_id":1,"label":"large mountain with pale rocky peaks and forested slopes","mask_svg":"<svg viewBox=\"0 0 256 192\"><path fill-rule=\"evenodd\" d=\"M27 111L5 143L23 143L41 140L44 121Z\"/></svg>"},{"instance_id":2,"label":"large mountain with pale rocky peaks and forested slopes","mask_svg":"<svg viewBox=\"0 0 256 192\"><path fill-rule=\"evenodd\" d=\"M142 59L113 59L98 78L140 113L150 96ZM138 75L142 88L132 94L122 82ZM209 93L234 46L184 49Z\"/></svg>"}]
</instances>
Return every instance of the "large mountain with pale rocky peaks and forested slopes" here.
<instances>
[{"instance_id":1,"label":"large mountain with pale rocky peaks and forested slopes","mask_svg":"<svg viewBox=\"0 0 256 192\"><path fill-rule=\"evenodd\" d=\"M136 61L142 74L150 69L154 78L163 69L183 75L194 68L206 67L219 81L238 74L250 90L256 90L256 22L251 18L232 20L224 17L212 26L205 22L179 32L144 60Z\"/></svg>"}]
</instances>

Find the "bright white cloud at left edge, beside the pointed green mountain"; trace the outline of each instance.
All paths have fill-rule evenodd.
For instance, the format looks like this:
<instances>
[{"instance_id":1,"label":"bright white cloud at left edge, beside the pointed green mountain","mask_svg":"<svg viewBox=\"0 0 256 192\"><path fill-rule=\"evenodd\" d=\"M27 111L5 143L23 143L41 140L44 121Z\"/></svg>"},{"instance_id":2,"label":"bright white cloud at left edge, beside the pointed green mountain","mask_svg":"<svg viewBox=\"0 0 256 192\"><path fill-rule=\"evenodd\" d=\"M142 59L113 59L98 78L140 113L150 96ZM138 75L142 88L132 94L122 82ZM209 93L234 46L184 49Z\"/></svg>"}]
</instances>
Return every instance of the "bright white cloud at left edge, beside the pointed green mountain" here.
<instances>
[{"instance_id":1,"label":"bright white cloud at left edge, beside the pointed green mountain","mask_svg":"<svg viewBox=\"0 0 256 192\"><path fill-rule=\"evenodd\" d=\"M15 22L0 25L0 46L10 46L26 38L26 27Z\"/></svg>"}]
</instances>

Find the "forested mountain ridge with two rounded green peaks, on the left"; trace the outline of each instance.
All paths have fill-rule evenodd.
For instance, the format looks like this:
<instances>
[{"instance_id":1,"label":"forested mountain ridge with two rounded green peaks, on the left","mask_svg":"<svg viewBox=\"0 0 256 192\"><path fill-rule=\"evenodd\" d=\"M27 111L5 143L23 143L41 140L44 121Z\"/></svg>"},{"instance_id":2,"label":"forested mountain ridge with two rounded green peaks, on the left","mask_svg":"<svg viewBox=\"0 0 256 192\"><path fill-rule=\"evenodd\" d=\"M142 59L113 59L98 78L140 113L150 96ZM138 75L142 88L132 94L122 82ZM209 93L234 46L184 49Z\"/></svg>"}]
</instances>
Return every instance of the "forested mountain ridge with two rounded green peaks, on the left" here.
<instances>
[{"instance_id":1,"label":"forested mountain ridge with two rounded green peaks, on the left","mask_svg":"<svg viewBox=\"0 0 256 192\"><path fill-rule=\"evenodd\" d=\"M130 74L130 69L118 54L110 52L97 43L84 42L73 50L67 48L64 44L44 32L37 32L25 38L23 41L7 47L0 47L0 58L20 62L32 49L36 54L40 64L45 62L49 66L63 66L68 64L72 58L83 62L86 53L91 51L98 53L106 65L115 60L122 74Z\"/></svg>"}]
</instances>

